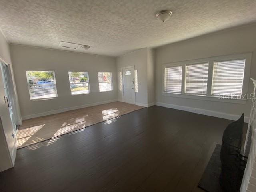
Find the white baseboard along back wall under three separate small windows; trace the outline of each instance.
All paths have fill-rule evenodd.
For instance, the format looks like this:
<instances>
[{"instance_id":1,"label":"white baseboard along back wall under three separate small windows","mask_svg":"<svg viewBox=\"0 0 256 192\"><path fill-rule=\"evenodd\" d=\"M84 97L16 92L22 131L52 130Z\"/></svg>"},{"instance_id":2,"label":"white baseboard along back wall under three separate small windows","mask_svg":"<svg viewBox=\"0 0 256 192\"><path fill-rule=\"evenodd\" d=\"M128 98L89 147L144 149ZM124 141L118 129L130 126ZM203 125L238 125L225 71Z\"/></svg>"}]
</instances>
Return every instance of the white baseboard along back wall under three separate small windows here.
<instances>
[{"instance_id":1,"label":"white baseboard along back wall under three separate small windows","mask_svg":"<svg viewBox=\"0 0 256 192\"><path fill-rule=\"evenodd\" d=\"M75 110L75 109L80 109L80 108L85 108L85 107L91 107L91 106L96 106L96 105L101 105L101 104L106 104L106 103L111 103L111 102L116 102L116 101L117 101L117 99L114 99L114 100L90 103L90 104L85 104L85 105L80 105L80 106L68 107L68 108L63 108L63 109L51 110L51 111L46 111L43 113L22 116L22 119L25 120L25 119L35 118L35 117L52 115L52 114L61 113L61 112L65 112L65 111L70 111L70 110Z\"/></svg>"}]
</instances>

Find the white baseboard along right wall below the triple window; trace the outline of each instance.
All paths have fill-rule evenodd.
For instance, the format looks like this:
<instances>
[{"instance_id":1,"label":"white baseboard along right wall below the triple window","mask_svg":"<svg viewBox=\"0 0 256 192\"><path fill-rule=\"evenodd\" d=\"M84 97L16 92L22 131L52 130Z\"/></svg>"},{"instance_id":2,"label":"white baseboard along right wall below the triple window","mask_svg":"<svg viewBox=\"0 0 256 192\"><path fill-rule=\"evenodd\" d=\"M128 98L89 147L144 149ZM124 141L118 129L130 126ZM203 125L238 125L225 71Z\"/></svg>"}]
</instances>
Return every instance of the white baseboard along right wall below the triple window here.
<instances>
[{"instance_id":1,"label":"white baseboard along right wall below the triple window","mask_svg":"<svg viewBox=\"0 0 256 192\"><path fill-rule=\"evenodd\" d=\"M172 108L172 109L178 109L178 110L182 110L182 111L188 111L188 112L192 112L192 113L198 113L198 114L202 114L202 115L223 118L223 119L238 120L240 118L240 115L234 115L234 114L229 114L229 113L223 113L223 112L194 108L194 107L180 106L180 105L174 105L174 104L168 104L168 103L155 102L155 105ZM245 116L244 122L248 123L249 117Z\"/></svg>"}]
</instances>

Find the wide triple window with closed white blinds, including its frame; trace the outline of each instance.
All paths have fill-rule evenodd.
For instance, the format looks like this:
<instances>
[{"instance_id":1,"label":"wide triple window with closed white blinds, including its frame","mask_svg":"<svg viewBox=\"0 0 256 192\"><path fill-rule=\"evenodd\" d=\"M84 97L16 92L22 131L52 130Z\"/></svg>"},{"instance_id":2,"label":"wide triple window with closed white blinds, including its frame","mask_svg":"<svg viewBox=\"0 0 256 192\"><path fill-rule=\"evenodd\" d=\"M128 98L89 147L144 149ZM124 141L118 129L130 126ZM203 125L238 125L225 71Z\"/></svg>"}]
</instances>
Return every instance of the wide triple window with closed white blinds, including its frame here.
<instances>
[{"instance_id":1,"label":"wide triple window with closed white blinds, including its frame","mask_svg":"<svg viewBox=\"0 0 256 192\"><path fill-rule=\"evenodd\" d=\"M163 64L164 96L245 104L252 54Z\"/></svg>"}]
</instances>

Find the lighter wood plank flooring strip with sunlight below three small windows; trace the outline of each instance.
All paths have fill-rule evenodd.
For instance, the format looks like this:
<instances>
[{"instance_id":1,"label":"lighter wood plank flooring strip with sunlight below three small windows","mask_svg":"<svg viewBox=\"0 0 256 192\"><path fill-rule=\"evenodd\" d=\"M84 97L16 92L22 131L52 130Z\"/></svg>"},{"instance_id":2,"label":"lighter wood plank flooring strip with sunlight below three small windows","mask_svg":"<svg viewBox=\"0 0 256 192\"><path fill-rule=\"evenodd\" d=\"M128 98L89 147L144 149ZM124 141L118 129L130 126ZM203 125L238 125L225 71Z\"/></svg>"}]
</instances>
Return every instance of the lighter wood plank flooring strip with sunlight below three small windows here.
<instances>
[{"instance_id":1,"label":"lighter wood plank flooring strip with sunlight below three small windows","mask_svg":"<svg viewBox=\"0 0 256 192\"><path fill-rule=\"evenodd\" d=\"M18 148L121 116L143 107L112 102L24 120L17 134Z\"/></svg>"}]
</instances>

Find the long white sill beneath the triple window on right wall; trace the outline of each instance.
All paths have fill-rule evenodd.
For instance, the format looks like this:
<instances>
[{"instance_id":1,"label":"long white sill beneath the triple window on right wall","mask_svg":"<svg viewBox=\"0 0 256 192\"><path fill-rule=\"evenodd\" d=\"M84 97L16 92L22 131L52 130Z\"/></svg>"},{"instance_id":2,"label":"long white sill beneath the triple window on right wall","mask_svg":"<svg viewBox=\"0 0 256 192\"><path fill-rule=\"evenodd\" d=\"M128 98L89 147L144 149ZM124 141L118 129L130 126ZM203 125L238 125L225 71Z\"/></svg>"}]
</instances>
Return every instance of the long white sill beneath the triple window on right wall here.
<instances>
[{"instance_id":1,"label":"long white sill beneath the triple window on right wall","mask_svg":"<svg viewBox=\"0 0 256 192\"><path fill-rule=\"evenodd\" d=\"M196 100L246 104L246 99L220 99L220 97L218 96L188 95L188 94L166 93L166 92L163 92L162 95L169 96L169 97L196 99Z\"/></svg>"}]
</instances>

